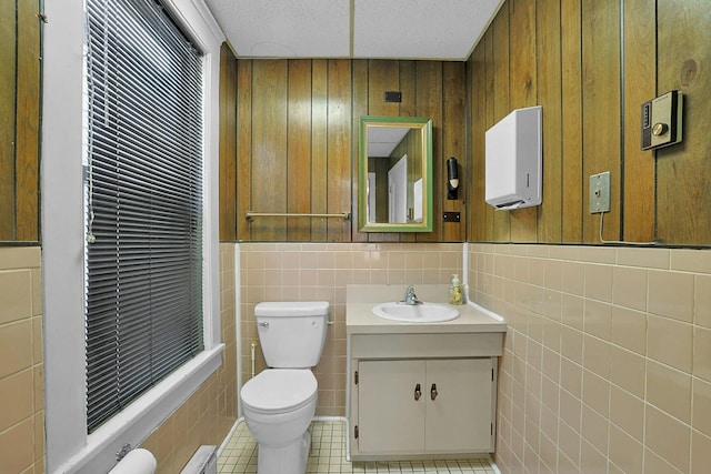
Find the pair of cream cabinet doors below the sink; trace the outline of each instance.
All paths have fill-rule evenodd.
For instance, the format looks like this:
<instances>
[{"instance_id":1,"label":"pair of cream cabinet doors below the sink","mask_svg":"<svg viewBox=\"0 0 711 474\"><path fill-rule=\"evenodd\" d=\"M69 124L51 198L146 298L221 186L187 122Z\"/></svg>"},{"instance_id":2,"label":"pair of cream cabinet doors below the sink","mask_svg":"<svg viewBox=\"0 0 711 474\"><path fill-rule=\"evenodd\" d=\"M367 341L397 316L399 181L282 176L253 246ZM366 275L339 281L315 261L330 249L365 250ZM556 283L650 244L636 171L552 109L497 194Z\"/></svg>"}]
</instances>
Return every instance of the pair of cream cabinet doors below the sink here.
<instances>
[{"instance_id":1,"label":"pair of cream cabinet doors below the sink","mask_svg":"<svg viewBox=\"0 0 711 474\"><path fill-rule=\"evenodd\" d=\"M359 452L489 450L493 365L491 359L360 361Z\"/></svg>"}]
</instances>

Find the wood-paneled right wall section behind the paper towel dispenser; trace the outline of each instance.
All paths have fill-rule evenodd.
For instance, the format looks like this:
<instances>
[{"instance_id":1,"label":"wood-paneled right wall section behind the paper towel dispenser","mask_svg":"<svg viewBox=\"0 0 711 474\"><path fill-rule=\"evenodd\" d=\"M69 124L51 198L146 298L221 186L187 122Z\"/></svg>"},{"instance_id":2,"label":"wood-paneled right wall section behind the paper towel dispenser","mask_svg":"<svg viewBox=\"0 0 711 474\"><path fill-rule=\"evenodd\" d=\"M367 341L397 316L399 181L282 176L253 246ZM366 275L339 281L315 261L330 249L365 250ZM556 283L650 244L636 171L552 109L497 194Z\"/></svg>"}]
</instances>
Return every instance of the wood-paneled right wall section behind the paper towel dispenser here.
<instances>
[{"instance_id":1,"label":"wood-paneled right wall section behind the paper towel dispenser","mask_svg":"<svg viewBox=\"0 0 711 474\"><path fill-rule=\"evenodd\" d=\"M611 172L604 240L711 244L711 9L703 0L507 0L467 62L467 239L599 243L590 174ZM642 102L684 94L683 143L640 150ZM483 200L484 132L543 108L543 203Z\"/></svg>"}]
</instances>

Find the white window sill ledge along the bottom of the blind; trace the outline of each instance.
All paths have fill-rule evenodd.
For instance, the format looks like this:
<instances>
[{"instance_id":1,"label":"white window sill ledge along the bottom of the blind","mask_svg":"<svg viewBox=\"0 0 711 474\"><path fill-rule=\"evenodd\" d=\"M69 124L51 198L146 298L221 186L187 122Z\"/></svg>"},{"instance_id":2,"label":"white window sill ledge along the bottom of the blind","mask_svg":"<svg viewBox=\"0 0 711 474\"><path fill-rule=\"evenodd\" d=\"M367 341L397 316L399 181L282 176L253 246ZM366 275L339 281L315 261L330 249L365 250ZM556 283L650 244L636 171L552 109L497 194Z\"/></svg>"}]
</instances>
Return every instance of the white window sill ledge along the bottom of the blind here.
<instances>
[{"instance_id":1,"label":"white window sill ledge along the bottom of the blind","mask_svg":"<svg viewBox=\"0 0 711 474\"><path fill-rule=\"evenodd\" d=\"M87 436L57 472L98 473L116 464L122 446L138 446L222 365L224 344L206 350ZM109 466L109 467L107 467Z\"/></svg>"}]
</instances>

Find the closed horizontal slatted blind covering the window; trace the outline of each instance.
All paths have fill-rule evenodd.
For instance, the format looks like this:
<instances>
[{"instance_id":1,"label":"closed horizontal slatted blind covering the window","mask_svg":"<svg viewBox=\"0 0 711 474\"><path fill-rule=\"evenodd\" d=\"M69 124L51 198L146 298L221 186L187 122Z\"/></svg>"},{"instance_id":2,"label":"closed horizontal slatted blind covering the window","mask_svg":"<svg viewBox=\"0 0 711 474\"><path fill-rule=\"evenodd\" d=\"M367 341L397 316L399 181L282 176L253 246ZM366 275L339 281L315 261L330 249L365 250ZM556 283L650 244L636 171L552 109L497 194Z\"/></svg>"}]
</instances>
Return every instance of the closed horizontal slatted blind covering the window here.
<instances>
[{"instance_id":1,"label":"closed horizontal slatted blind covering the window","mask_svg":"<svg viewBox=\"0 0 711 474\"><path fill-rule=\"evenodd\" d=\"M154 0L87 0L87 427L203 350L202 58Z\"/></svg>"}]
</instances>

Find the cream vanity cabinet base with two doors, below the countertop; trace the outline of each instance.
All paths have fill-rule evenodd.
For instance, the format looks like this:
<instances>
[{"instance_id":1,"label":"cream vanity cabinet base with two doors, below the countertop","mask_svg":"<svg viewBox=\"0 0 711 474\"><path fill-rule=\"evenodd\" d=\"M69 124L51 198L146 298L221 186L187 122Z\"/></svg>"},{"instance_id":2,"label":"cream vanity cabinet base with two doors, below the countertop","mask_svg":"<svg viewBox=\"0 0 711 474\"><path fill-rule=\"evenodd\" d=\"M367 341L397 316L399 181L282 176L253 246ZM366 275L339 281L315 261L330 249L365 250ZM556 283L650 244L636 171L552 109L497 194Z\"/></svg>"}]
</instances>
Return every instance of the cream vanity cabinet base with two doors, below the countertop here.
<instances>
[{"instance_id":1,"label":"cream vanity cabinet base with two doors, below the countertop","mask_svg":"<svg viewBox=\"0 0 711 474\"><path fill-rule=\"evenodd\" d=\"M352 334L349 342L353 461L493 452L502 333Z\"/></svg>"}]
</instances>

